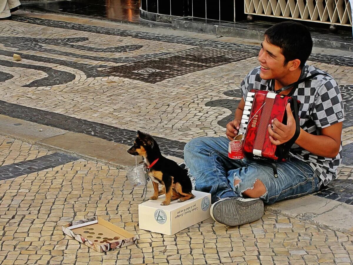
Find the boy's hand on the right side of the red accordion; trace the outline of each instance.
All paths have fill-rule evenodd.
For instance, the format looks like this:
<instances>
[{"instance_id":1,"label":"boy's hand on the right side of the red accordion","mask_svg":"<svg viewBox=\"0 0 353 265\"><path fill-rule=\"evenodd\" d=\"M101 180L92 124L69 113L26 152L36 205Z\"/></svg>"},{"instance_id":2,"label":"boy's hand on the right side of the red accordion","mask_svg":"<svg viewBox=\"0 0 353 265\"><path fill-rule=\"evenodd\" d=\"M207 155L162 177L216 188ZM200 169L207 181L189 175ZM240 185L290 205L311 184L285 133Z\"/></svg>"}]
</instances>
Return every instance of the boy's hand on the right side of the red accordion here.
<instances>
[{"instance_id":1,"label":"boy's hand on the right side of the red accordion","mask_svg":"<svg viewBox=\"0 0 353 265\"><path fill-rule=\"evenodd\" d=\"M268 132L270 134L270 141L274 145L281 145L292 139L295 133L295 119L292 114L291 105L286 106L287 111L287 125L279 122L279 120L272 120L272 127L268 125Z\"/></svg>"}]
</instances>

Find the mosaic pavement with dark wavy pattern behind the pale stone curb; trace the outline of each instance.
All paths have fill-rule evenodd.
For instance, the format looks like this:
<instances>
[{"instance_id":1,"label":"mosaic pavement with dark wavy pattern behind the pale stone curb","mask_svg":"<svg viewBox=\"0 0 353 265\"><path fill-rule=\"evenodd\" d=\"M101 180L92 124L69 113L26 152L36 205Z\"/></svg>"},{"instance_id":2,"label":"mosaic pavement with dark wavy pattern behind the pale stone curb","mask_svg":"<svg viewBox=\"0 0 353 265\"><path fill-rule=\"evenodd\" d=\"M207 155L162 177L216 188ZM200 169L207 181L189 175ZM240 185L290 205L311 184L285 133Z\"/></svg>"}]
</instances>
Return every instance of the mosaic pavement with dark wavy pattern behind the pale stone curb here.
<instances>
[{"instance_id":1,"label":"mosaic pavement with dark wavy pattern behind the pale stone curb","mask_svg":"<svg viewBox=\"0 0 353 265\"><path fill-rule=\"evenodd\" d=\"M258 66L259 47L252 45L20 16L1 25L0 71L7 73L1 81L2 114L127 145L140 129L156 138L164 154L180 158L190 139L224 135L240 100L239 84ZM190 51L193 71L180 58ZM23 60L13 62L13 53ZM175 59L172 75L162 75L168 60L161 58ZM207 65L210 58L220 61ZM162 69L155 69L157 61ZM342 86L348 113L343 152L350 163L353 58L312 54L308 63ZM338 179L351 182L343 172L348 171L340 171ZM338 187L330 188L336 200L342 198Z\"/></svg>"}]
</instances>

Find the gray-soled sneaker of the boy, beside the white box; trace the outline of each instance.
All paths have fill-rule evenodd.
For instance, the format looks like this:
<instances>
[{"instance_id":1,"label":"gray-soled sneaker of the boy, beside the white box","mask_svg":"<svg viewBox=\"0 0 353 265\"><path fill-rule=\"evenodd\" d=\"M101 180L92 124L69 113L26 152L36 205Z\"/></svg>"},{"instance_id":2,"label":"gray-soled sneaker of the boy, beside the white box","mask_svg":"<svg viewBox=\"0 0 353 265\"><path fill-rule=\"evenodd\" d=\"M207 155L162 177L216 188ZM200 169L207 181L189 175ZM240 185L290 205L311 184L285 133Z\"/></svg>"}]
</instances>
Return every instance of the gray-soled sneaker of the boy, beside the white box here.
<instances>
[{"instance_id":1,"label":"gray-soled sneaker of the boy, beside the white box","mask_svg":"<svg viewBox=\"0 0 353 265\"><path fill-rule=\"evenodd\" d=\"M211 205L211 217L218 223L237 226L260 219L264 203L260 199L224 198Z\"/></svg>"}]
</instances>

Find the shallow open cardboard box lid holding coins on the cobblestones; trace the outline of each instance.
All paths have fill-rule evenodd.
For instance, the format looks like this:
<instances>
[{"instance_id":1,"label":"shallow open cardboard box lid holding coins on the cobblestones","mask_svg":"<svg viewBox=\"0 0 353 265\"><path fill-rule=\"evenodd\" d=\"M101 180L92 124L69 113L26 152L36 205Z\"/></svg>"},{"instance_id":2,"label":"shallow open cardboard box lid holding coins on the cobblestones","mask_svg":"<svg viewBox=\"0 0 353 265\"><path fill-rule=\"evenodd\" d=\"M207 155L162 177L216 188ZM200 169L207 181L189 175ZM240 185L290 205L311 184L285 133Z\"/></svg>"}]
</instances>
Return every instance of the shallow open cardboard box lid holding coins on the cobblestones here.
<instances>
[{"instance_id":1,"label":"shallow open cardboard box lid holding coins on the cobblestones","mask_svg":"<svg viewBox=\"0 0 353 265\"><path fill-rule=\"evenodd\" d=\"M96 216L63 225L62 231L100 253L133 245L137 240L135 235Z\"/></svg>"}]
</instances>

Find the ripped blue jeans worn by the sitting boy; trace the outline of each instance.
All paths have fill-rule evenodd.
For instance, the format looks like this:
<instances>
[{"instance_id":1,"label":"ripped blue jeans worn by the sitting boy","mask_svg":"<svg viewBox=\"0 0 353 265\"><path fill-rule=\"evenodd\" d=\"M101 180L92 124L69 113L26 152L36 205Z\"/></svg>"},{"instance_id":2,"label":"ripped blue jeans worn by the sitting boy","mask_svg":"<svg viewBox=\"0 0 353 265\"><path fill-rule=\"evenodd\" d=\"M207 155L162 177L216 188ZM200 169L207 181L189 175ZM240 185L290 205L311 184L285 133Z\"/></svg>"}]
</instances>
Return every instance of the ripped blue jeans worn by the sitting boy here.
<instances>
[{"instance_id":1,"label":"ripped blue jeans worn by the sitting boy","mask_svg":"<svg viewBox=\"0 0 353 265\"><path fill-rule=\"evenodd\" d=\"M276 163L278 177L275 178L267 160L228 158L228 143L226 137L199 137L184 148L185 164L196 180L195 189L211 193L212 203L227 197L243 197L243 192L252 189L258 179L267 190L260 199L267 204L320 189L321 180L306 162L291 157Z\"/></svg>"}]
</instances>

